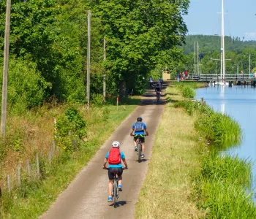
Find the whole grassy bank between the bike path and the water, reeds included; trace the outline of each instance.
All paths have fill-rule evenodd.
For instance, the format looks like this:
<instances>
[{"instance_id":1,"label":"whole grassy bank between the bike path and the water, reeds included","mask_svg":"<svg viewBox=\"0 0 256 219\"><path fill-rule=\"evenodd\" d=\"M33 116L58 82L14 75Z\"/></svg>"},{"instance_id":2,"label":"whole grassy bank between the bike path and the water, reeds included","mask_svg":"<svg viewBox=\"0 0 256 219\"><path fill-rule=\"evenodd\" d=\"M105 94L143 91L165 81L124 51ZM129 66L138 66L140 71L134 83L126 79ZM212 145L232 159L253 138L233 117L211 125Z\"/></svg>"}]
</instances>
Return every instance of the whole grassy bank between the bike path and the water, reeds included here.
<instances>
[{"instance_id":1,"label":"whole grassy bank between the bike path and the water, reeds included","mask_svg":"<svg viewBox=\"0 0 256 219\"><path fill-rule=\"evenodd\" d=\"M252 193L248 194L252 164L209 150L213 144L229 147L238 141L241 129L227 115L185 101L182 95L191 98L193 88L195 85L167 89L170 103L157 132L136 216L255 218Z\"/></svg>"}]
</instances>

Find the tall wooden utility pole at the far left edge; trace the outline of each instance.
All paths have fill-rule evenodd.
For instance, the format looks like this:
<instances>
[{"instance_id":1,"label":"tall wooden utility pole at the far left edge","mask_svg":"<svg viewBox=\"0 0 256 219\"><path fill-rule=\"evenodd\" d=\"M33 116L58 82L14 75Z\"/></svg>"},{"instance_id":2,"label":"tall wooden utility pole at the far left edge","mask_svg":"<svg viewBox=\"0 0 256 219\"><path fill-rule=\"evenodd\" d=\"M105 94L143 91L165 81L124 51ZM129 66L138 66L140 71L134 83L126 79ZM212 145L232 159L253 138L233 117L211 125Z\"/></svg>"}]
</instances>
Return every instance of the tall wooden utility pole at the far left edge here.
<instances>
[{"instance_id":1,"label":"tall wooden utility pole at the far left edge","mask_svg":"<svg viewBox=\"0 0 256 219\"><path fill-rule=\"evenodd\" d=\"M7 80L9 64L9 38L10 38L10 14L11 0L7 0L5 33L4 33L4 71L3 71L3 90L1 99L1 137L5 140L5 127L7 118Z\"/></svg>"}]
</instances>

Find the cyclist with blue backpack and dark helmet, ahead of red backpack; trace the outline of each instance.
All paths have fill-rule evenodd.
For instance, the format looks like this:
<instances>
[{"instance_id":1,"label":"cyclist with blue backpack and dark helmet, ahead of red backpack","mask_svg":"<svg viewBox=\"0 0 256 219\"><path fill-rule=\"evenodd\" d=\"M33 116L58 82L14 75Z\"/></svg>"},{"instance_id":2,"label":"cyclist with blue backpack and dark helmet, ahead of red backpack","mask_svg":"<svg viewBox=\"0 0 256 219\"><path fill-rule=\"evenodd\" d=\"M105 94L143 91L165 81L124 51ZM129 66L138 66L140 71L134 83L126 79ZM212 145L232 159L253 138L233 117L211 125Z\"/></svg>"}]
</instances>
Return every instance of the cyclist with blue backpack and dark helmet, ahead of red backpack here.
<instances>
[{"instance_id":1,"label":"cyclist with blue backpack and dark helmet, ahead of red backpack","mask_svg":"<svg viewBox=\"0 0 256 219\"><path fill-rule=\"evenodd\" d=\"M145 123L142 122L141 117L138 117L137 122L132 125L132 132L130 133L131 136L133 134L133 131L134 131L133 142L135 145L135 151L138 150L137 139L138 139L138 137L140 137L140 141L141 141L141 145L142 145L141 157L144 158L145 157L145 132L146 132L146 135L148 135L148 131L147 131L147 126Z\"/></svg>"}]
</instances>

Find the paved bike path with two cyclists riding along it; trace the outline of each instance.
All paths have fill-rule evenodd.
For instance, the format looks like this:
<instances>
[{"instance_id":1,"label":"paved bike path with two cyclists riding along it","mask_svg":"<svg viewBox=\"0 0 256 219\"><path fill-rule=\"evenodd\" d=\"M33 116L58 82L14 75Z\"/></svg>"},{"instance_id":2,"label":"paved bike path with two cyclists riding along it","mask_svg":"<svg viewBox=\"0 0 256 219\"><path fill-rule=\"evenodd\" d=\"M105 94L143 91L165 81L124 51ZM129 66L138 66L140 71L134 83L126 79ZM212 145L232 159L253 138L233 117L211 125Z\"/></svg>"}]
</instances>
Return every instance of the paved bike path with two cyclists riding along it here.
<instances>
[{"instance_id":1,"label":"paved bike path with two cyclists riding along it","mask_svg":"<svg viewBox=\"0 0 256 219\"><path fill-rule=\"evenodd\" d=\"M156 103L154 90L147 91L142 105L137 107L129 117L121 123L112 136L100 148L89 164L75 177L67 190L59 195L56 202L42 219L66 218L135 218L135 204L138 201L140 187L146 176L151 148L157 126L164 110L163 100ZM132 123L138 116L146 123L149 136L146 137L145 159L139 164L138 155L134 151L132 137L129 136ZM102 169L103 160L110 150L113 141L121 142L121 151L126 156L129 169L124 170L123 191L119 193L118 207L108 202L108 172Z\"/></svg>"}]
</instances>

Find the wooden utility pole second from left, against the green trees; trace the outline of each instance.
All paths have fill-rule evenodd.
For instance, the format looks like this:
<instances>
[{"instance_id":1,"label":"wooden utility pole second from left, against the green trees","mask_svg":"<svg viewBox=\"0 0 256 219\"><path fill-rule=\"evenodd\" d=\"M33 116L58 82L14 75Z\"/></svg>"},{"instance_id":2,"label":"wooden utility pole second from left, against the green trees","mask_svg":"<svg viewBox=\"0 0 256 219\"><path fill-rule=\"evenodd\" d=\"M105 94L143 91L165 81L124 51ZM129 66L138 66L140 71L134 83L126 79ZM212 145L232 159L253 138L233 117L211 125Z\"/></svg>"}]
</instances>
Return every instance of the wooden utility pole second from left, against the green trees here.
<instances>
[{"instance_id":1,"label":"wooden utility pole second from left, against the green trees","mask_svg":"<svg viewBox=\"0 0 256 219\"><path fill-rule=\"evenodd\" d=\"M88 44L87 44L87 109L90 108L90 65L91 65L91 10L88 10Z\"/></svg>"}]
</instances>

